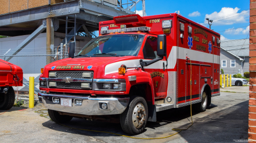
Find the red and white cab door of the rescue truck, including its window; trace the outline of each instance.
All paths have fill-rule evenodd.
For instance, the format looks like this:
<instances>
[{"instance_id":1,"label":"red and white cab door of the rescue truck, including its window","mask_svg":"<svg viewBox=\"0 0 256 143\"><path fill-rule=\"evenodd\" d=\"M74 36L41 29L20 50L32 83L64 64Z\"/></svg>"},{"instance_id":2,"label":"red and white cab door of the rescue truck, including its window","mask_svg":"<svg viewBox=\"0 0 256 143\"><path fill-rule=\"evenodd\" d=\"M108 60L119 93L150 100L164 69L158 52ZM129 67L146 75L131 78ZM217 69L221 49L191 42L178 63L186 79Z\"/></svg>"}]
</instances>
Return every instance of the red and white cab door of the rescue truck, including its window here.
<instances>
[{"instance_id":1,"label":"red and white cab door of the rescue truck, including its window","mask_svg":"<svg viewBox=\"0 0 256 143\"><path fill-rule=\"evenodd\" d=\"M143 61L150 61L158 58L157 55L157 37L148 35L143 47ZM164 98L167 89L167 69L166 60L160 60L152 65L144 67L144 71L151 74L154 83L155 99Z\"/></svg>"}]
</instances>

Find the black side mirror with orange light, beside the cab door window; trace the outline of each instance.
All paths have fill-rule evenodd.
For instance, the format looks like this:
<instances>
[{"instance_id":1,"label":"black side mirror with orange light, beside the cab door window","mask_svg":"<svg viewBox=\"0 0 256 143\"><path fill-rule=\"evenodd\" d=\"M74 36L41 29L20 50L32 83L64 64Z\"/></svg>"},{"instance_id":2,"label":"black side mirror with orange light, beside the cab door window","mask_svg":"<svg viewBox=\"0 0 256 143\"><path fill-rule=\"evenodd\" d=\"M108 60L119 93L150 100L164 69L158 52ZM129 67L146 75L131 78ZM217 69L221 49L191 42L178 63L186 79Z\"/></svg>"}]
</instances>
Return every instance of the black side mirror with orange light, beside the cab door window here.
<instances>
[{"instance_id":1,"label":"black side mirror with orange light, beside the cab door window","mask_svg":"<svg viewBox=\"0 0 256 143\"><path fill-rule=\"evenodd\" d=\"M157 55L166 56L166 35L157 36Z\"/></svg>"}]
</instances>

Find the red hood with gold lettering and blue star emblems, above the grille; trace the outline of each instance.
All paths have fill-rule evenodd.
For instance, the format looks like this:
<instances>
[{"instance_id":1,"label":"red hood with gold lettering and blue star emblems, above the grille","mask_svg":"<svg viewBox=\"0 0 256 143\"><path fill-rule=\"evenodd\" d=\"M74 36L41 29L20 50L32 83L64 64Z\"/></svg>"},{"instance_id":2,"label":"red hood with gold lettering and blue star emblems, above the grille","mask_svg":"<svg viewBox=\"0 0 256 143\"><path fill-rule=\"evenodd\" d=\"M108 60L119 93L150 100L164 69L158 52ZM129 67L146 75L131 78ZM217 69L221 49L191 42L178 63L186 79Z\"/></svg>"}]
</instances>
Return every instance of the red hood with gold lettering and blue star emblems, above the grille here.
<instances>
[{"instance_id":1,"label":"red hood with gold lettering and blue star emblems, above the grille","mask_svg":"<svg viewBox=\"0 0 256 143\"><path fill-rule=\"evenodd\" d=\"M67 58L48 64L45 66L44 77L48 77L49 71L69 71L69 70L84 70L94 71L97 77L102 76L106 65L126 60L138 59L137 56L107 56L107 57L92 57L92 58ZM94 77L96 78L96 77Z\"/></svg>"}]
</instances>

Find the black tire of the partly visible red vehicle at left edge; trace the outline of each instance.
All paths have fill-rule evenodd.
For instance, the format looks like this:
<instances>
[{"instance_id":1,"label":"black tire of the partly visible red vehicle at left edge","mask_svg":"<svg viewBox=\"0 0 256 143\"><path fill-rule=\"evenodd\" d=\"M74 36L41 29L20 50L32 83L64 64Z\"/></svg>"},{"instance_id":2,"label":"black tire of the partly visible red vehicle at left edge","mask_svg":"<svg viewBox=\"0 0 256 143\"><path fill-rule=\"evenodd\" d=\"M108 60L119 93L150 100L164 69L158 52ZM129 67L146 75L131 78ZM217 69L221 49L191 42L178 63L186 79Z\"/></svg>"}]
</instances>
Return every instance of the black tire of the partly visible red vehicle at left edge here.
<instances>
[{"instance_id":1,"label":"black tire of the partly visible red vehicle at left edge","mask_svg":"<svg viewBox=\"0 0 256 143\"><path fill-rule=\"evenodd\" d=\"M7 93L0 93L0 110L10 109L15 101L15 93L12 87L9 87Z\"/></svg>"}]
</instances>

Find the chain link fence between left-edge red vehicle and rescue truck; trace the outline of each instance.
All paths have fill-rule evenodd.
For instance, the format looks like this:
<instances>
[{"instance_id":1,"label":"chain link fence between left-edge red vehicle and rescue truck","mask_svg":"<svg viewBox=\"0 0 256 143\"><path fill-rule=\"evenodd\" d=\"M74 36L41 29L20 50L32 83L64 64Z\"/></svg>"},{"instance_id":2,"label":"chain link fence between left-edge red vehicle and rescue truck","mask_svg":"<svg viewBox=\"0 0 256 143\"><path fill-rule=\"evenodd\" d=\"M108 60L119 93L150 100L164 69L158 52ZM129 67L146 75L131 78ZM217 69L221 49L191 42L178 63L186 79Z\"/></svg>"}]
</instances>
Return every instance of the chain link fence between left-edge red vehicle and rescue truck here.
<instances>
[{"instance_id":1,"label":"chain link fence between left-edge red vehicle and rescue truck","mask_svg":"<svg viewBox=\"0 0 256 143\"><path fill-rule=\"evenodd\" d=\"M46 49L46 47L45 47ZM80 51L81 48L76 47L75 54ZM27 49L26 49L27 50ZM31 49L31 50L34 50ZM9 50L11 51L11 50ZM9 52L8 51L8 52ZM1 53L0 59L5 60L14 65L19 66L23 69L23 86L13 87L15 91L15 99L17 100L29 100L29 77L33 76L35 87L34 87L34 99L38 101L37 93L39 90L39 77L41 75L41 68L46 65L68 58L68 52L65 49L59 47L54 47L55 52L19 52L16 55L8 55L8 52ZM16 100L16 101L17 101Z\"/></svg>"}]
</instances>

